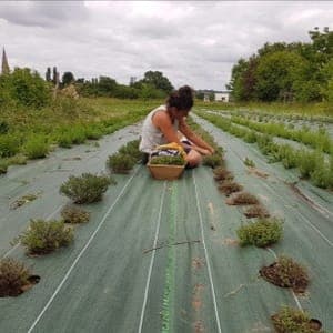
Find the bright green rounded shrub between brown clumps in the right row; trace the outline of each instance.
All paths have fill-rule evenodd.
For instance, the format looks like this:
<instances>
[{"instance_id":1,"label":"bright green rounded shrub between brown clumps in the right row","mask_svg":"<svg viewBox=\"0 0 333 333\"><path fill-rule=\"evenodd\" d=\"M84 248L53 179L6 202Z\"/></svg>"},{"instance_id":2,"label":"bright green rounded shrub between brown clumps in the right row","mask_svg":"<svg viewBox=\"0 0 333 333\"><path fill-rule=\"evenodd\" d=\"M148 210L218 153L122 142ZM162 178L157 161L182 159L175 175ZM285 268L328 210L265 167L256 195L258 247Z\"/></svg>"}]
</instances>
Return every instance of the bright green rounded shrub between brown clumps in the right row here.
<instances>
[{"instance_id":1,"label":"bright green rounded shrub between brown clumps in the right row","mask_svg":"<svg viewBox=\"0 0 333 333\"><path fill-rule=\"evenodd\" d=\"M254 223L242 225L238 231L240 245L269 246L282 236L282 221L278 219L260 219Z\"/></svg>"}]
</instances>

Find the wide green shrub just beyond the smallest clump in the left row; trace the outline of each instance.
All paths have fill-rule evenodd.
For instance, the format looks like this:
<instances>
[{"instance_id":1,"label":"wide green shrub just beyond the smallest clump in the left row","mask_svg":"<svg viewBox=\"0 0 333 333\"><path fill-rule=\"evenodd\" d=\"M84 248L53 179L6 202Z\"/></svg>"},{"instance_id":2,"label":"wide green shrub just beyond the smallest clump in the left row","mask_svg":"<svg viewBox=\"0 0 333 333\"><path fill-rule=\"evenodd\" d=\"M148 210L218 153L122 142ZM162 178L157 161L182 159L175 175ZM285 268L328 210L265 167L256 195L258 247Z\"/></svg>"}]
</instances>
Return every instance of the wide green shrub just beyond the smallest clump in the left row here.
<instances>
[{"instance_id":1,"label":"wide green shrub just beyond the smallest clump in the left row","mask_svg":"<svg viewBox=\"0 0 333 333\"><path fill-rule=\"evenodd\" d=\"M100 201L108 186L115 181L107 175L83 173L80 176L70 175L69 180L60 186L60 193L65 194L74 203L91 203Z\"/></svg>"}]
</instances>

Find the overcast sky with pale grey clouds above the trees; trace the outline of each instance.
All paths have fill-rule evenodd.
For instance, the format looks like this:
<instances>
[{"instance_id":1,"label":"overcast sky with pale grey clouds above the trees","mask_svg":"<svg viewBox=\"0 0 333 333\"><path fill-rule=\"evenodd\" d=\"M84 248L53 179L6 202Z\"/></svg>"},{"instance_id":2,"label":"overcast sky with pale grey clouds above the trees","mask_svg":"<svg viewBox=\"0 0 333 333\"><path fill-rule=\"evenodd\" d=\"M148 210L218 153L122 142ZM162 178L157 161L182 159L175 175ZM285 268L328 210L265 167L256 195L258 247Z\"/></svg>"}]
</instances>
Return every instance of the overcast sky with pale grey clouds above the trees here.
<instances>
[{"instance_id":1,"label":"overcast sky with pale grey clouds above the trees","mask_svg":"<svg viewBox=\"0 0 333 333\"><path fill-rule=\"evenodd\" d=\"M179 88L225 90L231 69L264 42L309 42L333 30L333 1L1 1L9 64L42 77L131 77L161 71Z\"/></svg>"}]
</instances>

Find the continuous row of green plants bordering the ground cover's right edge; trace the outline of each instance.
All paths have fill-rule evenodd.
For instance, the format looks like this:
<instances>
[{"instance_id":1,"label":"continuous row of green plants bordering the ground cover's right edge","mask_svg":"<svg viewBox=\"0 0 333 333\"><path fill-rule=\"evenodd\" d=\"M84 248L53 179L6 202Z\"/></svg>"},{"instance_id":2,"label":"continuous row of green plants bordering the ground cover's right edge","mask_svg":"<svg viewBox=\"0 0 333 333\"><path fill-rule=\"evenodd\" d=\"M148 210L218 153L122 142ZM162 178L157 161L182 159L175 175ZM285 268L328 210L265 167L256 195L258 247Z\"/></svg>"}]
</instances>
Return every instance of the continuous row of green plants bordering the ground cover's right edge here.
<instances>
[{"instance_id":1,"label":"continuous row of green plants bordering the ground cover's right edge","mask_svg":"<svg viewBox=\"0 0 333 333\"><path fill-rule=\"evenodd\" d=\"M205 112L196 112L200 117L212 122L225 132L241 138L248 143L256 143L260 151L269 155L270 162L282 162L286 169L296 168L302 179L309 179L314 185L323 189L333 189L333 158L326 161L320 151L294 149L289 144L279 144L269 134L256 133L233 125L222 117Z\"/></svg>"}]
</instances>

